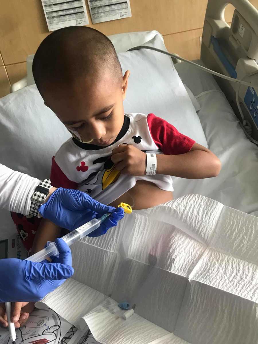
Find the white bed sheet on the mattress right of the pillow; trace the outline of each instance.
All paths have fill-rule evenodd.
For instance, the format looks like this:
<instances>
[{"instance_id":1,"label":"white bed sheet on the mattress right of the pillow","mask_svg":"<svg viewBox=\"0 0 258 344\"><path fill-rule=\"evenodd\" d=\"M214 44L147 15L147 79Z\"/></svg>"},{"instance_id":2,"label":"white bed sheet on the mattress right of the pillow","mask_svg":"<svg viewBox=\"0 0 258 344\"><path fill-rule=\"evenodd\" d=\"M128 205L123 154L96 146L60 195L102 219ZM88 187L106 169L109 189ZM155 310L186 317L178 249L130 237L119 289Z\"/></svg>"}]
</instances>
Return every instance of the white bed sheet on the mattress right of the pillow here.
<instances>
[{"instance_id":1,"label":"white bed sheet on the mattress right of the pillow","mask_svg":"<svg viewBox=\"0 0 258 344\"><path fill-rule=\"evenodd\" d=\"M202 64L201 60L196 62ZM175 68L197 97L201 106L198 116L209 149L221 159L222 170L213 179L175 178L174 197L198 193L258 216L258 148L246 138L211 74L184 62L175 64Z\"/></svg>"}]
</instances>

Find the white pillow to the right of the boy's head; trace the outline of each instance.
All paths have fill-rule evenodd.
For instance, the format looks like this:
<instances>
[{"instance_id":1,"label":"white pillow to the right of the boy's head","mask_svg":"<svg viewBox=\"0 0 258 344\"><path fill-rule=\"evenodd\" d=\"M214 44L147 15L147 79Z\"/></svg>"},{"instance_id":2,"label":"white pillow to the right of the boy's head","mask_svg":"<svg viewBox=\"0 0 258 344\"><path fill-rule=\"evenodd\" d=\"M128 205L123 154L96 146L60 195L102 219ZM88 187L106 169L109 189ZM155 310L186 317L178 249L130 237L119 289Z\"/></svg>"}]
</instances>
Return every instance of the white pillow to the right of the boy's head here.
<instances>
[{"instance_id":1,"label":"white pillow to the right of the boy's head","mask_svg":"<svg viewBox=\"0 0 258 344\"><path fill-rule=\"evenodd\" d=\"M166 50L159 35L144 45ZM154 113L208 147L200 119L169 56L141 49L119 53L118 58L123 73L131 72L125 112Z\"/></svg>"}]
</instances>

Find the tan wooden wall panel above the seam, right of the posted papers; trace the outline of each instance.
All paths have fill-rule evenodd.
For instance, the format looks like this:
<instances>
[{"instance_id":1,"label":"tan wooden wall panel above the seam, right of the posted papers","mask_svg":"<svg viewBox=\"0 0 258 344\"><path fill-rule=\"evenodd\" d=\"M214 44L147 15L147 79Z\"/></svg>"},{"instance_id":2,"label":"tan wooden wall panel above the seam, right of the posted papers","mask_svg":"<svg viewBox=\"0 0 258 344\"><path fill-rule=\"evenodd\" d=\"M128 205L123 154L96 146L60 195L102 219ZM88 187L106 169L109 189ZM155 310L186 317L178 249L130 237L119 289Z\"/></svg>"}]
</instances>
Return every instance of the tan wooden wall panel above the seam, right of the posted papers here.
<instances>
[{"instance_id":1,"label":"tan wooden wall panel above the seam, right of the posted papers","mask_svg":"<svg viewBox=\"0 0 258 344\"><path fill-rule=\"evenodd\" d=\"M162 35L203 27L207 0L130 0L132 17L95 24L106 35L158 30Z\"/></svg>"}]
</instances>

